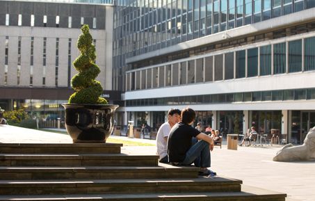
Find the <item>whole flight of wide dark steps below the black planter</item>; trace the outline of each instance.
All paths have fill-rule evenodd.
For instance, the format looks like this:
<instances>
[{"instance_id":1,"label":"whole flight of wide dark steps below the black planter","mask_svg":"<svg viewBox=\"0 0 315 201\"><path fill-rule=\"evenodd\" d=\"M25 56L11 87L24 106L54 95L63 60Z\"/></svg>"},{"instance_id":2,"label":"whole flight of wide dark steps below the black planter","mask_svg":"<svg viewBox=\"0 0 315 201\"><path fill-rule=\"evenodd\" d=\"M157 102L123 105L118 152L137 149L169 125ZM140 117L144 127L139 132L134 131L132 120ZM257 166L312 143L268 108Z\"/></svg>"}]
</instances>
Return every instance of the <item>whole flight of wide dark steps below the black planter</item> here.
<instances>
[{"instance_id":1,"label":"whole flight of wide dark steps below the black planter","mask_svg":"<svg viewBox=\"0 0 315 201\"><path fill-rule=\"evenodd\" d=\"M286 194L193 166L123 154L122 144L0 143L0 200L275 200ZM231 163L232 165L232 163ZM229 168L229 167L227 167Z\"/></svg>"}]
</instances>

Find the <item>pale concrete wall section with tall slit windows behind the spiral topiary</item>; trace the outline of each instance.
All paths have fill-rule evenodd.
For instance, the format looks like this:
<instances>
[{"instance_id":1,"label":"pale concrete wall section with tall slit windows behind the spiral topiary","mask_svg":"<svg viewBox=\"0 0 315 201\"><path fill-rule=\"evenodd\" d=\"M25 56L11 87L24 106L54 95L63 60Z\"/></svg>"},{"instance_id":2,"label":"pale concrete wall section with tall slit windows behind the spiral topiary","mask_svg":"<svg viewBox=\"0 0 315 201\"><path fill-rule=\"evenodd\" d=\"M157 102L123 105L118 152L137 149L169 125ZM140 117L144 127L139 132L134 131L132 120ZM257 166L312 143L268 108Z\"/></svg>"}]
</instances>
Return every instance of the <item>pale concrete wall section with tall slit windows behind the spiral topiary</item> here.
<instances>
[{"instance_id":1,"label":"pale concrete wall section with tall slit windows behind the spiral topiary","mask_svg":"<svg viewBox=\"0 0 315 201\"><path fill-rule=\"evenodd\" d=\"M111 63L111 54L105 53L106 47L111 45L111 40L106 41L106 31L91 29L93 39L96 40L97 65L101 69L101 74L97 79L102 83L105 89L111 89L111 79L109 86L106 83L106 74L108 66ZM0 41L5 44L6 35L9 36L9 53L8 53L8 85L17 86L17 48L18 37L22 37L22 63L21 78L19 86L29 86L30 66L31 66L31 37L34 37L34 63L33 63L33 86L42 86L43 75L43 38L47 38L46 48L46 86L55 87L55 70L56 70L56 38L59 38L59 62L58 62L58 86L67 87L68 85L68 40L72 39L71 44L71 63L79 56L76 47L76 40L81 34L80 29L63 29L63 28L42 28L42 27L19 27L19 26L0 26ZM3 46L2 46L3 47ZM0 61L4 64L4 47L0 51ZM111 65L109 66L111 68ZM76 70L71 67L71 77L76 74ZM4 65L0 65L0 86L4 86ZM111 72L109 72L111 73ZM107 75L111 77L111 75Z\"/></svg>"}]
</instances>

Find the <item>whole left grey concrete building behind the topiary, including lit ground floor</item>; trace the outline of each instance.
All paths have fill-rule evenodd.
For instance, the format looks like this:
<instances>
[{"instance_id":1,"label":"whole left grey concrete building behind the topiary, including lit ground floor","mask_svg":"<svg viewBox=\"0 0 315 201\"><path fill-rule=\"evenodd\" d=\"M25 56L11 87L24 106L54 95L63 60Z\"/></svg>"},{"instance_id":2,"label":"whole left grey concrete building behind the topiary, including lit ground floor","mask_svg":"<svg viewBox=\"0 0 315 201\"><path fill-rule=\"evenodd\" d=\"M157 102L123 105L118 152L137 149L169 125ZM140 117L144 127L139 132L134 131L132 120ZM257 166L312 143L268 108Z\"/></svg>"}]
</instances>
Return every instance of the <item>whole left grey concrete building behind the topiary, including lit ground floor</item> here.
<instances>
[{"instance_id":1,"label":"whole left grey concrete building behind the topiary, including lit ground floor","mask_svg":"<svg viewBox=\"0 0 315 201\"><path fill-rule=\"evenodd\" d=\"M89 25L94 40L104 97L111 103L120 99L111 85L111 1L0 1L1 108L63 118L82 24Z\"/></svg>"}]
</instances>

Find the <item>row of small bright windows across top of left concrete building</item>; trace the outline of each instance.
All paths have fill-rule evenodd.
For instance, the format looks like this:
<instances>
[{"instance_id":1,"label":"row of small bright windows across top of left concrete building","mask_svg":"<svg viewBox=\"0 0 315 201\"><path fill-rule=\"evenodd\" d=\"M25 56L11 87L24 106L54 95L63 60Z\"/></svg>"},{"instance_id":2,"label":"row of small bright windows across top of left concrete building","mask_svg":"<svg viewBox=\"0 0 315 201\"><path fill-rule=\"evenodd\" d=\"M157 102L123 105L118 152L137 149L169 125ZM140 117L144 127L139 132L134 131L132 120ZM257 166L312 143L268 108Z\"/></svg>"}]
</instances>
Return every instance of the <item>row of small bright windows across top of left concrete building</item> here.
<instances>
[{"instance_id":1,"label":"row of small bright windows across top of left concrete building","mask_svg":"<svg viewBox=\"0 0 315 201\"><path fill-rule=\"evenodd\" d=\"M6 14L6 26L10 26L10 16L12 17L16 17L16 15L10 15L10 14ZM83 26L84 24L84 17L81 17L80 18L80 24L81 26ZM34 26L35 24L35 15L31 15L31 26ZM41 20L41 19L36 19L36 20ZM23 24L22 23L22 14L19 14L17 15L17 26L29 26L29 23L27 24ZM59 23L60 23L60 17L59 15L56 16L56 27L59 27ZM68 21L67 21L67 24L68 24L68 28L72 28L72 17L71 16L68 16ZM97 23L96 23L96 17L93 17L92 18L92 29L97 29L96 27ZM46 27L47 26L47 15L44 15L42 17L42 26Z\"/></svg>"}]
</instances>

